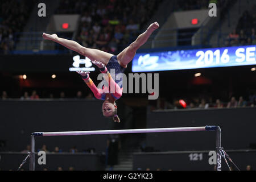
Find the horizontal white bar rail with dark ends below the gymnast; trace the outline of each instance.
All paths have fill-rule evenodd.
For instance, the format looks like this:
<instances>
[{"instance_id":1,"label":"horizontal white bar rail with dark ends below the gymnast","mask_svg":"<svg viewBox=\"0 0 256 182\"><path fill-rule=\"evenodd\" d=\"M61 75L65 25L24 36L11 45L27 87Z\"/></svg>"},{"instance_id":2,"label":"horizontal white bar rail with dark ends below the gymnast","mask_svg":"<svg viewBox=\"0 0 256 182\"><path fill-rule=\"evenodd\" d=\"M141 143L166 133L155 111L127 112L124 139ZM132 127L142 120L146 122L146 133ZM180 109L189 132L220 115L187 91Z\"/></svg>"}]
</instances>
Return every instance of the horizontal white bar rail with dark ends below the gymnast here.
<instances>
[{"instance_id":1,"label":"horizontal white bar rail with dark ends below the gymnast","mask_svg":"<svg viewBox=\"0 0 256 182\"><path fill-rule=\"evenodd\" d=\"M69 136L69 135L105 135L105 134L129 134L129 133L163 133L179 131L216 131L218 126L201 126L201 127L171 127L159 129L129 129L129 130L96 130L96 131L64 131L64 132L35 132L32 136Z\"/></svg>"}]
</instances>

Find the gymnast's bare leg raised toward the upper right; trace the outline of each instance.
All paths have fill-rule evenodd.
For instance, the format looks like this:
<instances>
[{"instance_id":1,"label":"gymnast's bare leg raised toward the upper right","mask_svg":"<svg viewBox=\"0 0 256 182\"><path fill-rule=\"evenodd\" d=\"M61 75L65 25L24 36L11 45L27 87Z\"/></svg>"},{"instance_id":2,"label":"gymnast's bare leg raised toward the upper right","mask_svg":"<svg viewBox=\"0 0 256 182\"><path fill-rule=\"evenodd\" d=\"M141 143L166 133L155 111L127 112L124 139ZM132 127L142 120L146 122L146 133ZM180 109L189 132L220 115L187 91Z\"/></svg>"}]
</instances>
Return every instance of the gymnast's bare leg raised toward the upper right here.
<instances>
[{"instance_id":1,"label":"gymnast's bare leg raised toward the upper right","mask_svg":"<svg viewBox=\"0 0 256 182\"><path fill-rule=\"evenodd\" d=\"M121 53L117 55L117 60L122 67L126 68L127 64L133 60L133 57L136 54L136 51L147 42L147 39L150 37L152 32L159 28L158 22L150 24L143 34L139 35L135 42L131 43L129 47L126 47Z\"/></svg>"}]
</instances>

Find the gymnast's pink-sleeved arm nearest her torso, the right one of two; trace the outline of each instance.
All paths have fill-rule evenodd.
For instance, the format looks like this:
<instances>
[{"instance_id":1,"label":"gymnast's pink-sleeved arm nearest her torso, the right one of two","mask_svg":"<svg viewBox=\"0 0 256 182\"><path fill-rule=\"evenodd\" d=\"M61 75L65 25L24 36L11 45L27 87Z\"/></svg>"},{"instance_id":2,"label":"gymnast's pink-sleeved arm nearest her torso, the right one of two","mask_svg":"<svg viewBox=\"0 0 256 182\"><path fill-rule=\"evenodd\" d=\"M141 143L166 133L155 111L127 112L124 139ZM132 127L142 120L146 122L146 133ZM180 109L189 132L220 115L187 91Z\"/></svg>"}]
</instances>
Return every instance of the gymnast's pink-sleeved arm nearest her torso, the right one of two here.
<instances>
[{"instance_id":1,"label":"gymnast's pink-sleeved arm nearest her torso, the right one of two","mask_svg":"<svg viewBox=\"0 0 256 182\"><path fill-rule=\"evenodd\" d=\"M113 80L106 66L100 61L92 61L92 63L97 65L98 68L100 68L101 73L105 73L108 76L108 78L106 79L109 80L109 88L111 88L111 86L114 85L115 92L113 93L113 96L115 97L115 99L120 98L123 93L123 88L120 88L120 86Z\"/></svg>"}]
</instances>

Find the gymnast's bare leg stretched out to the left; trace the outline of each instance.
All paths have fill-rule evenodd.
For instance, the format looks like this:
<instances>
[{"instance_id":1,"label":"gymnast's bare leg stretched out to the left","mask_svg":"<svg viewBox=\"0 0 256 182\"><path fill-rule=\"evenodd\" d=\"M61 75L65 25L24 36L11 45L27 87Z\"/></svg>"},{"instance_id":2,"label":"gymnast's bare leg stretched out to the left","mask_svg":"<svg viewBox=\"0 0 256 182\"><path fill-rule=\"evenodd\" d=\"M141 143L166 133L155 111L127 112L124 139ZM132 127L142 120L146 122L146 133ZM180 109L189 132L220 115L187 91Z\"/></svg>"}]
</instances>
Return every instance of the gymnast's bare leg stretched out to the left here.
<instances>
[{"instance_id":1,"label":"gymnast's bare leg stretched out to the left","mask_svg":"<svg viewBox=\"0 0 256 182\"><path fill-rule=\"evenodd\" d=\"M79 43L73 40L59 38L56 34L49 35L43 33L43 38L46 40L52 40L53 42L59 43L62 46L65 46L73 51L80 53L81 55L88 57L90 60L101 61L105 65L109 63L110 58L113 56L111 53L100 51L98 49L82 47Z\"/></svg>"}]
</instances>

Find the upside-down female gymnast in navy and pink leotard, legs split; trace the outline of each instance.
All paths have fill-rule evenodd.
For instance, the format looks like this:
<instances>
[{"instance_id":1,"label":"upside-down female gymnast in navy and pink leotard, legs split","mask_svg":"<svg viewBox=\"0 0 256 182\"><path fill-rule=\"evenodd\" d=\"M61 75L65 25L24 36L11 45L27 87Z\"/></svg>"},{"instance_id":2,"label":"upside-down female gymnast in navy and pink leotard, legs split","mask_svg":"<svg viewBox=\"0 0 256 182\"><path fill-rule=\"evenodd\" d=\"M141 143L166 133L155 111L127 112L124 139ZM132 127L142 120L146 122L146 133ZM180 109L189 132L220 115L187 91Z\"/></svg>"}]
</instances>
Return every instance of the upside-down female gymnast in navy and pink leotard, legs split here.
<instances>
[{"instance_id":1,"label":"upside-down female gymnast in navy and pink leotard, legs split","mask_svg":"<svg viewBox=\"0 0 256 182\"><path fill-rule=\"evenodd\" d=\"M159 24L157 22L150 24L143 34L139 35L135 42L131 43L130 46L126 47L121 53L117 56L112 55L110 53L100 51L98 49L91 49L82 47L79 43L73 40L67 40L63 38L59 38L56 34L45 34L43 33L43 38L47 40L52 40L53 42L59 43L73 51L80 53L88 57L90 60L93 60L92 63L95 64L102 73L106 73L109 77L109 85L115 85L115 93L102 93L102 90L98 89L96 85L94 85L93 81L89 77L89 72L79 73L82 76L82 79L92 90L94 96L97 99L105 100L102 104L102 113L105 117L113 117L114 122L120 122L120 119L117 115L117 105L115 101L118 100L122 96L122 86L120 88L118 82L120 80L114 81L110 76L110 69L115 69L115 75L118 73L123 73L127 67L127 64L133 60L136 51L147 42L147 39L150 37L152 32L154 32L157 28L159 28ZM109 70L109 71L108 71ZM122 80L121 80L122 81ZM110 88L109 88L110 89ZM104 89L105 90L105 89ZM110 90L109 90L110 91Z\"/></svg>"}]
</instances>

